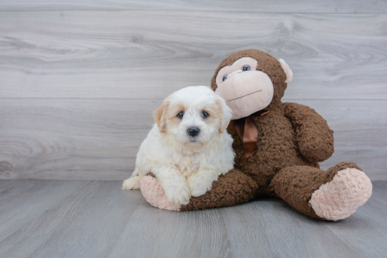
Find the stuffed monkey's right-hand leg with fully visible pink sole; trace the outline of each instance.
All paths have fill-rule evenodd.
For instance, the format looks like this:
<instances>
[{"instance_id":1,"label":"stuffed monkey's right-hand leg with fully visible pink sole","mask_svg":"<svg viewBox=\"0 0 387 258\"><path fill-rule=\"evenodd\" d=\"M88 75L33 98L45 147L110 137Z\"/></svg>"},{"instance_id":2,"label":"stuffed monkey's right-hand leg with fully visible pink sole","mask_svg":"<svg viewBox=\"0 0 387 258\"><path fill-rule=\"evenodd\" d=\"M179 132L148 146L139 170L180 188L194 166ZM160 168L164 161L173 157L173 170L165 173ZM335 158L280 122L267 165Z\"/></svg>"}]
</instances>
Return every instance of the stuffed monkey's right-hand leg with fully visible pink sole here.
<instances>
[{"instance_id":1,"label":"stuffed monkey's right-hand leg with fully visible pink sole","mask_svg":"<svg viewBox=\"0 0 387 258\"><path fill-rule=\"evenodd\" d=\"M269 187L298 212L337 221L353 214L372 194L372 183L352 162L323 171L296 166L281 169Z\"/></svg>"}]
</instances>

